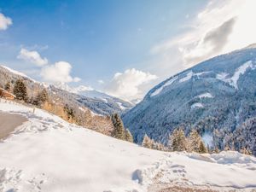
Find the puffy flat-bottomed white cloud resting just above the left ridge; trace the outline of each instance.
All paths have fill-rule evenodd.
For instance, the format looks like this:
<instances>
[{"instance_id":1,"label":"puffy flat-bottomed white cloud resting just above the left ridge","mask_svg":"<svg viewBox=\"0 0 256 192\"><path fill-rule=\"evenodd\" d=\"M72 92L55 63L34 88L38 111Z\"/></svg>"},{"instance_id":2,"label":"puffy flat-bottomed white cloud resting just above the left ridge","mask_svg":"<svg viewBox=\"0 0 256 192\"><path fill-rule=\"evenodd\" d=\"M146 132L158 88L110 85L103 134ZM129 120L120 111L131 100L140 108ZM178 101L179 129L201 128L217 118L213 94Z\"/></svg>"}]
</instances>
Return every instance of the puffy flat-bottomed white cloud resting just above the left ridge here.
<instances>
[{"instance_id":1,"label":"puffy flat-bottomed white cloud resting just above the left ridge","mask_svg":"<svg viewBox=\"0 0 256 192\"><path fill-rule=\"evenodd\" d=\"M78 82L81 79L71 77L72 66L66 61L56 62L54 65L43 67L41 77L46 82L50 83L70 83Z\"/></svg>"}]
</instances>

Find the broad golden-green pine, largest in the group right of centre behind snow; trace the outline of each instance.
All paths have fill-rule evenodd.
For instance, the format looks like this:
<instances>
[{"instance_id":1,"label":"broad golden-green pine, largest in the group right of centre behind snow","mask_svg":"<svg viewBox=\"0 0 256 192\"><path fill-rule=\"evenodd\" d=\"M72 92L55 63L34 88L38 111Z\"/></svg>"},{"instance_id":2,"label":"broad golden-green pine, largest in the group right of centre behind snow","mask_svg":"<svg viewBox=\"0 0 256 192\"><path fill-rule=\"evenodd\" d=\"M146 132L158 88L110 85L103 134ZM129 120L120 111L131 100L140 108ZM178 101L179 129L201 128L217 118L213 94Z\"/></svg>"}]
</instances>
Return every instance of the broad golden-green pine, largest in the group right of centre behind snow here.
<instances>
[{"instance_id":1,"label":"broad golden-green pine, largest in the group right of centre behind snow","mask_svg":"<svg viewBox=\"0 0 256 192\"><path fill-rule=\"evenodd\" d=\"M172 151L186 150L187 141L182 129L176 129L173 131L172 136L170 137L170 145Z\"/></svg>"}]
</instances>

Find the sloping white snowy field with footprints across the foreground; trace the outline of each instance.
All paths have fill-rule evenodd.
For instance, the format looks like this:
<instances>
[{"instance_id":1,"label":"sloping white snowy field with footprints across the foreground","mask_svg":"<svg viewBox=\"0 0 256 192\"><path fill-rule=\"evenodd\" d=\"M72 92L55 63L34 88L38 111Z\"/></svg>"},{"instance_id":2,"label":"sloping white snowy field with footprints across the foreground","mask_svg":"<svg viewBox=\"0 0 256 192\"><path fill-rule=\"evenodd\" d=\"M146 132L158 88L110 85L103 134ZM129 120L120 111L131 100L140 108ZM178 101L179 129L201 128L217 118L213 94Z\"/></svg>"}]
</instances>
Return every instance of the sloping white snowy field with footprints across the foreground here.
<instances>
[{"instance_id":1,"label":"sloping white snowy field with footprints across the foreground","mask_svg":"<svg viewBox=\"0 0 256 192\"><path fill-rule=\"evenodd\" d=\"M40 109L33 114L32 108L1 100L0 111L29 119L0 143L0 191L143 192L174 185L256 189L251 156L165 153L68 124Z\"/></svg>"}]
</instances>

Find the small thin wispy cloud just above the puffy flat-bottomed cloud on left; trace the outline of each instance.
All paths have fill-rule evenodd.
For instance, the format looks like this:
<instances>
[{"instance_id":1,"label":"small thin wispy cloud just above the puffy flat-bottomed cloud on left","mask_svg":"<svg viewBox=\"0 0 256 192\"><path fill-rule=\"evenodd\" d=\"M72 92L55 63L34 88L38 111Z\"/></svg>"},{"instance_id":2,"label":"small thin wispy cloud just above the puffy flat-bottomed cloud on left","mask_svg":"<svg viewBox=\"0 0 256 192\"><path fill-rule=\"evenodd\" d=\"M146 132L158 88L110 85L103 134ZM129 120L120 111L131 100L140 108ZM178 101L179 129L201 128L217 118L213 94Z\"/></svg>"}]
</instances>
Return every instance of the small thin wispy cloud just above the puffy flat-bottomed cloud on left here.
<instances>
[{"instance_id":1,"label":"small thin wispy cloud just above the puffy flat-bottomed cloud on left","mask_svg":"<svg viewBox=\"0 0 256 192\"><path fill-rule=\"evenodd\" d=\"M24 61L29 61L39 67L42 67L48 63L48 60L45 57L42 58L38 51L30 51L24 48L20 49L20 54L17 56L17 58Z\"/></svg>"}]
</instances>

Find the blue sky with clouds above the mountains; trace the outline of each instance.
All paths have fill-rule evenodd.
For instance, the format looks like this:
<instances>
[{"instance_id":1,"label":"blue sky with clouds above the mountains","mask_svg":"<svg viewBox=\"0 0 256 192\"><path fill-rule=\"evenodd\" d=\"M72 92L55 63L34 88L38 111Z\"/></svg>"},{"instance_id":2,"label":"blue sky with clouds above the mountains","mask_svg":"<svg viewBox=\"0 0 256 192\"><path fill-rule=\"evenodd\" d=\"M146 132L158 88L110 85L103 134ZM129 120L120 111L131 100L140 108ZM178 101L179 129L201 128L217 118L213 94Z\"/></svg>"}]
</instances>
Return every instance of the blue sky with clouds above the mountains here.
<instances>
[{"instance_id":1,"label":"blue sky with clouds above the mountains","mask_svg":"<svg viewBox=\"0 0 256 192\"><path fill-rule=\"evenodd\" d=\"M0 62L26 73L33 79L61 81L54 79L55 75L44 75L57 75L59 68L55 63L65 61L59 63L59 67L67 67L68 72L60 74L63 79L68 79L65 74L71 78L66 83L73 86L84 84L128 100L139 98L154 84L197 62L197 59L191 60L188 57L191 56L188 52L194 54L191 44L199 46L200 39L195 42L193 39L184 40L193 36L195 28L196 32L203 31L198 35L202 39L207 32L218 29L227 21L226 25L232 31L236 20L230 19L241 13L225 7L238 8L240 4L216 2L0 1L0 13L12 20L7 29L0 31ZM221 19L211 24L210 19L205 18L211 18L211 10L214 12L219 8L224 9L222 13L217 13ZM200 13L205 12L204 18L199 19ZM224 14L229 17L224 19ZM204 24L206 22L208 26ZM224 37L227 38L226 36ZM184 44L184 41L190 44ZM236 45L235 48L239 46L241 45ZM223 47L223 51L231 48ZM24 50L22 53L28 55L18 56L21 49ZM40 59L43 59L42 65L29 59L30 51L38 53ZM200 52L199 55L202 55L202 60L212 56L212 52ZM190 61L193 63L189 63ZM140 82L131 82L131 79ZM126 85L131 89L125 92L123 89Z\"/></svg>"}]
</instances>

